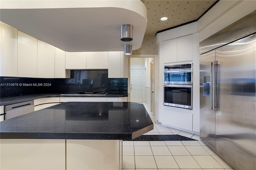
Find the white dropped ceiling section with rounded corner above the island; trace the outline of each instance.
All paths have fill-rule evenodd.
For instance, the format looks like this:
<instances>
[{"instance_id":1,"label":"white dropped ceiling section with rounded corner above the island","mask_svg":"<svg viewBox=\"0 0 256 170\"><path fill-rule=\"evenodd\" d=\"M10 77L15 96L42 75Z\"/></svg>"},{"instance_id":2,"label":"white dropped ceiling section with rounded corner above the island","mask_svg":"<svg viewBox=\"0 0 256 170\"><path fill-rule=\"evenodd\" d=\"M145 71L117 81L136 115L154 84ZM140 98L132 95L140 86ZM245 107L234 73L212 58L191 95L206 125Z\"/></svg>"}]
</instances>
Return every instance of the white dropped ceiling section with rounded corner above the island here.
<instances>
[{"instance_id":1,"label":"white dropped ceiling section with rounded corner above the island","mask_svg":"<svg viewBox=\"0 0 256 170\"><path fill-rule=\"evenodd\" d=\"M69 52L123 51L124 44L131 44L134 50L142 44L146 8L140 0L57 1L52 6L51 1L46 5L45 1L31 2L35 1L26 1L26 5L17 5L18 1L3 5L1 1L0 20ZM132 42L120 40L122 24L133 26Z\"/></svg>"}]
</instances>

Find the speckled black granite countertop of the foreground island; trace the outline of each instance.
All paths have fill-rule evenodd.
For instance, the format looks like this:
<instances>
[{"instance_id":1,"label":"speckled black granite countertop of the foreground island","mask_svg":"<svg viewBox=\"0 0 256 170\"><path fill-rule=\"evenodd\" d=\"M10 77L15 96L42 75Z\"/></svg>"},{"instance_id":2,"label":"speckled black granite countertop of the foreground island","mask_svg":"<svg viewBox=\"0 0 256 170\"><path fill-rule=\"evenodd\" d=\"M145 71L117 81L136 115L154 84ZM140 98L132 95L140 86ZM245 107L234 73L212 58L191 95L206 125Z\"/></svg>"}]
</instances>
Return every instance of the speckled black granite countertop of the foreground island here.
<instances>
[{"instance_id":1,"label":"speckled black granite countertop of the foreground island","mask_svg":"<svg viewBox=\"0 0 256 170\"><path fill-rule=\"evenodd\" d=\"M0 137L130 140L153 127L142 104L67 102L0 122Z\"/></svg>"}]
</instances>

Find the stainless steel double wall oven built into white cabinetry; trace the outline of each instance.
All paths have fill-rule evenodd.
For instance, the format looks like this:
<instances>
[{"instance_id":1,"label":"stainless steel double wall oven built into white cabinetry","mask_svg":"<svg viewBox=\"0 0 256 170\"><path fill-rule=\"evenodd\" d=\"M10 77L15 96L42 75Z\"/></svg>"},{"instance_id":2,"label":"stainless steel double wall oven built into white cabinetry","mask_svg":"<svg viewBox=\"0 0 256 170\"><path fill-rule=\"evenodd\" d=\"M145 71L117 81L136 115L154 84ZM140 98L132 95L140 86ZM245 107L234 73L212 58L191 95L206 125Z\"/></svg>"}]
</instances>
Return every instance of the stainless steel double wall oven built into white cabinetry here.
<instances>
[{"instance_id":1,"label":"stainless steel double wall oven built into white cabinetry","mask_svg":"<svg viewBox=\"0 0 256 170\"><path fill-rule=\"evenodd\" d=\"M164 66L164 105L192 109L192 63Z\"/></svg>"}]
</instances>

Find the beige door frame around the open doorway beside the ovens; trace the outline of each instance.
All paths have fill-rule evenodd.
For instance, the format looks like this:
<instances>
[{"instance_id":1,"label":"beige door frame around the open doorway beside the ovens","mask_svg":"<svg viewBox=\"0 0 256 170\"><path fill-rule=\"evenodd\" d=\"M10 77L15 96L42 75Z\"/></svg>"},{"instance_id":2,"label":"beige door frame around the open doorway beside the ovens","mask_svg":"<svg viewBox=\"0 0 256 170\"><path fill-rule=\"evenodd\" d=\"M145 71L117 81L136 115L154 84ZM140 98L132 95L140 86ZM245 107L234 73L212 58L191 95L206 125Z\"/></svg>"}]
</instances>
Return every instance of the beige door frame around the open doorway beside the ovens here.
<instances>
[{"instance_id":1,"label":"beige door frame around the open doorway beside the ovens","mask_svg":"<svg viewBox=\"0 0 256 170\"><path fill-rule=\"evenodd\" d=\"M158 77L156 77L156 75L158 75L158 67L157 67L157 63L158 63L158 55L157 54L134 54L134 55L128 55L128 100L130 101L130 58L154 58L154 75L155 75L155 82L154 82L154 86L155 86L155 101L154 101L154 118L155 118L155 123L158 123L158 105L157 105L157 96L158 96Z\"/></svg>"}]
</instances>

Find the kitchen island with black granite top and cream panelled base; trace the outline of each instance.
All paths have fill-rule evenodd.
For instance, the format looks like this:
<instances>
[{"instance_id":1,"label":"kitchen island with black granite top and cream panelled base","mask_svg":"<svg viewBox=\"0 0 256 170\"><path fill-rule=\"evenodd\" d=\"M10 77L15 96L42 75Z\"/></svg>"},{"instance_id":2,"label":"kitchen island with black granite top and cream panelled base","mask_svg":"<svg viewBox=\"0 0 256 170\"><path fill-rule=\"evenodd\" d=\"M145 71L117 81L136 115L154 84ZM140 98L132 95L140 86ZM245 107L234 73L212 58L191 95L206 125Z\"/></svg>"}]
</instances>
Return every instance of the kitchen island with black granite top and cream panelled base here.
<instances>
[{"instance_id":1,"label":"kitchen island with black granite top and cream panelled base","mask_svg":"<svg viewBox=\"0 0 256 170\"><path fill-rule=\"evenodd\" d=\"M122 169L122 140L152 129L142 104L61 103L0 122L0 169Z\"/></svg>"}]
</instances>

